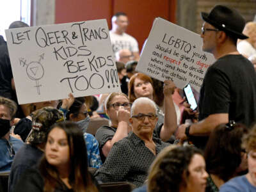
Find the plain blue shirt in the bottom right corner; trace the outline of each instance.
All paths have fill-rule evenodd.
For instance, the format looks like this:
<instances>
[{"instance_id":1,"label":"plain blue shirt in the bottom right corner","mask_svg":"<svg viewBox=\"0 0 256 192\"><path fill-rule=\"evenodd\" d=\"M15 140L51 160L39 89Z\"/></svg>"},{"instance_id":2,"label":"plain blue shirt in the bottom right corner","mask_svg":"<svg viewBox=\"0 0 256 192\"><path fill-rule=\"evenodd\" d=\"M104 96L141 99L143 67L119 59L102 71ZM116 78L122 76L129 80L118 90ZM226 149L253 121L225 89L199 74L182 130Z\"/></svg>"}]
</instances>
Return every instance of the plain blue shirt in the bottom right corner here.
<instances>
[{"instance_id":1,"label":"plain blue shirt in the bottom right corner","mask_svg":"<svg viewBox=\"0 0 256 192\"><path fill-rule=\"evenodd\" d=\"M235 177L220 187L220 192L253 192L256 187L253 186L245 175Z\"/></svg>"}]
</instances>

